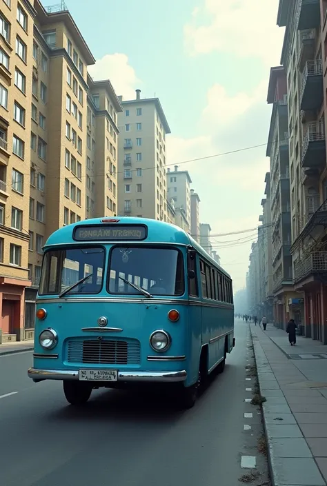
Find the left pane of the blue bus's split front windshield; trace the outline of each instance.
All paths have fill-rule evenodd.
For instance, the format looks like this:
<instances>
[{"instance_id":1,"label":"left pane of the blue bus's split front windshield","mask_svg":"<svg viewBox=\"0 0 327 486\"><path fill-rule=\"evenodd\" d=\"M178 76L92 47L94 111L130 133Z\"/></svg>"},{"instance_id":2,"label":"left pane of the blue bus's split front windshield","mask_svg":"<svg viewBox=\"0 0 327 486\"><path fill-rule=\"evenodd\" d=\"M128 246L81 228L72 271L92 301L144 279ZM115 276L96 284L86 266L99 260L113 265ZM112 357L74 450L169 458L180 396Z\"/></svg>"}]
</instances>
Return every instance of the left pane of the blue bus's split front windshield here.
<instances>
[{"instance_id":1,"label":"left pane of the blue bus's split front windshield","mask_svg":"<svg viewBox=\"0 0 327 486\"><path fill-rule=\"evenodd\" d=\"M86 246L46 252L39 295L65 290L67 294L97 294L102 287L105 255L103 247Z\"/></svg>"}]
</instances>

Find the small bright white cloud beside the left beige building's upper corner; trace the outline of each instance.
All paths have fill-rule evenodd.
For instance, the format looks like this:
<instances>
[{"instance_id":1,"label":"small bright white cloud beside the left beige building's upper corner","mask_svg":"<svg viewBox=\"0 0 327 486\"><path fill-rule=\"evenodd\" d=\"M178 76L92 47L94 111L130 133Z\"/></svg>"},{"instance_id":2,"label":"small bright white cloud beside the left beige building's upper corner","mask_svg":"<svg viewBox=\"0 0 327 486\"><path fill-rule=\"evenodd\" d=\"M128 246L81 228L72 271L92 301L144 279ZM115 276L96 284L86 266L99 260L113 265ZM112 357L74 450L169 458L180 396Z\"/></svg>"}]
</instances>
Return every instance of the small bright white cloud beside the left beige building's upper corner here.
<instances>
[{"instance_id":1,"label":"small bright white cloud beside the left beige building's upper corner","mask_svg":"<svg viewBox=\"0 0 327 486\"><path fill-rule=\"evenodd\" d=\"M122 94L124 99L135 98L135 89L139 88L140 80L128 63L126 54L106 54L88 71L95 81L110 79L117 95Z\"/></svg>"}]
</instances>

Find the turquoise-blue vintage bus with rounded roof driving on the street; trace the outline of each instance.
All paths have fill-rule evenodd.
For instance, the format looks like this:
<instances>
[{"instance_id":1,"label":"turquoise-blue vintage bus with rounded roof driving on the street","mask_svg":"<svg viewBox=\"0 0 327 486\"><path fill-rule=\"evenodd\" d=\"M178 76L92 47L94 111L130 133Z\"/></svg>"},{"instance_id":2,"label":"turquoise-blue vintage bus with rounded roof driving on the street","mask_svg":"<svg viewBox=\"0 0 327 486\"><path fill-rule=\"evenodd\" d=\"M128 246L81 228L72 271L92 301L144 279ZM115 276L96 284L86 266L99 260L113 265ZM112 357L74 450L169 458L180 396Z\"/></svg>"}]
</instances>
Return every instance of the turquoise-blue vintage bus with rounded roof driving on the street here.
<instances>
[{"instance_id":1,"label":"turquoise-blue vintage bus with rounded roof driving on the street","mask_svg":"<svg viewBox=\"0 0 327 486\"><path fill-rule=\"evenodd\" d=\"M190 408L234 345L232 280L181 228L88 219L46 241L28 376L63 381L70 404L159 383Z\"/></svg>"}]
</instances>

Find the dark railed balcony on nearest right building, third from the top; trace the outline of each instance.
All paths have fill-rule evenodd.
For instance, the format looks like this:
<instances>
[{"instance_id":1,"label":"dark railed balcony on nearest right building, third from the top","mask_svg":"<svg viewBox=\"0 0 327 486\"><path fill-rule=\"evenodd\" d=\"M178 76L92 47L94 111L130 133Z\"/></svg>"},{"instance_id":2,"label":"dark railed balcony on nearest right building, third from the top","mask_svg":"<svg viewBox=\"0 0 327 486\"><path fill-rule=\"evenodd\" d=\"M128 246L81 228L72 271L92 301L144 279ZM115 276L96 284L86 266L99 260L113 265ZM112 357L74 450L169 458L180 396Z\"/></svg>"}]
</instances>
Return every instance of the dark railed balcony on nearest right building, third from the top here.
<instances>
[{"instance_id":1,"label":"dark railed balcony on nearest right building, third from the top","mask_svg":"<svg viewBox=\"0 0 327 486\"><path fill-rule=\"evenodd\" d=\"M308 123L302 145L302 168L316 169L326 165L325 139L324 123Z\"/></svg>"}]
</instances>

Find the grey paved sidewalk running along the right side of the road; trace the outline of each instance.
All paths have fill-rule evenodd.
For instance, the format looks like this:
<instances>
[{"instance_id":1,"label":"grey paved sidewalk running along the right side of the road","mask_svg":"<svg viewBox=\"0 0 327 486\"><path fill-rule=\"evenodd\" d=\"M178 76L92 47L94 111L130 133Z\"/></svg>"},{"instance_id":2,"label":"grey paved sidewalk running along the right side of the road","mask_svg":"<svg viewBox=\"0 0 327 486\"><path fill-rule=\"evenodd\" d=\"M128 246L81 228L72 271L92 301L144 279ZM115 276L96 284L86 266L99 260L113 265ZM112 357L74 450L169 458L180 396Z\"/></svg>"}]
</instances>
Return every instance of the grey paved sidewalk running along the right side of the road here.
<instances>
[{"instance_id":1,"label":"grey paved sidewalk running along the right side of the road","mask_svg":"<svg viewBox=\"0 0 327 486\"><path fill-rule=\"evenodd\" d=\"M250 323L273 486L326 486L327 345Z\"/></svg>"}]
</instances>

